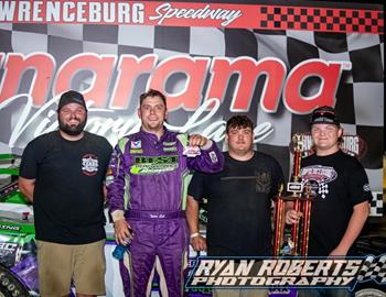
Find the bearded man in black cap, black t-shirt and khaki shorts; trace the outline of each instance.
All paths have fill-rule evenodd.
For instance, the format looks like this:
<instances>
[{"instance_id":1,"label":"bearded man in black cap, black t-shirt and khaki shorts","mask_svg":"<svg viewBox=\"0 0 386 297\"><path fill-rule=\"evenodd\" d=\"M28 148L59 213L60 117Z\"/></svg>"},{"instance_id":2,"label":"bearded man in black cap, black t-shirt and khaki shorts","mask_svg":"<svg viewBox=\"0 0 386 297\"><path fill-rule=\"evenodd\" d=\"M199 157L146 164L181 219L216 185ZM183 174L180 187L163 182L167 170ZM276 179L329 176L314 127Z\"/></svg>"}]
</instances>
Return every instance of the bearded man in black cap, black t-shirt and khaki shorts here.
<instances>
[{"instance_id":1,"label":"bearded man in black cap, black t-shirt and khaki shorts","mask_svg":"<svg viewBox=\"0 0 386 297\"><path fill-rule=\"evenodd\" d=\"M33 202L41 296L105 295L104 180L112 147L85 132L82 94L58 102L58 131L31 141L19 187Z\"/></svg>"}]
</instances>

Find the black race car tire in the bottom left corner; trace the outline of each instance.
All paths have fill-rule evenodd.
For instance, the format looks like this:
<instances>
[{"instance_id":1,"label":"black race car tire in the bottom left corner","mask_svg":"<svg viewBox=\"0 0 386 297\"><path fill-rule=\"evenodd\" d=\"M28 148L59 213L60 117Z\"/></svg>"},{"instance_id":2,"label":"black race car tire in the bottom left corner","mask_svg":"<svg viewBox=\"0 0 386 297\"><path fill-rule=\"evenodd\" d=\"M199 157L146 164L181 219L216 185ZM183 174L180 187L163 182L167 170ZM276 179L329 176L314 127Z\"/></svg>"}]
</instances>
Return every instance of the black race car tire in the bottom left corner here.
<instances>
[{"instance_id":1,"label":"black race car tire in the bottom left corner","mask_svg":"<svg viewBox=\"0 0 386 297\"><path fill-rule=\"evenodd\" d=\"M29 290L9 270L0 265L0 297L29 297Z\"/></svg>"}]
</instances>

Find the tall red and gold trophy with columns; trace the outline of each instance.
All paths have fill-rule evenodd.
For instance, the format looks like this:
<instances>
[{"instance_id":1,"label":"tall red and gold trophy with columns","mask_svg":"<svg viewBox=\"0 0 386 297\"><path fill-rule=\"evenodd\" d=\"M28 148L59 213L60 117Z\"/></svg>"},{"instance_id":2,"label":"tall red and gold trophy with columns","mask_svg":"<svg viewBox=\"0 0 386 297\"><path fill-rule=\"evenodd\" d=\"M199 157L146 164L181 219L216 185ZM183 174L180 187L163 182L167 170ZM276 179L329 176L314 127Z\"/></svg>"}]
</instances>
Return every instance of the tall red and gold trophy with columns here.
<instances>
[{"instance_id":1,"label":"tall red and gold trophy with columns","mask_svg":"<svg viewBox=\"0 0 386 297\"><path fill-rule=\"evenodd\" d=\"M283 186L279 188L275 207L275 241L274 255L302 255L308 254L310 219L311 219L311 187L304 185L300 176L302 157L302 135L292 136L293 145L293 170L290 182L287 184L287 193L282 195ZM303 213L299 223L293 223L290 231L286 230L286 202L293 204L293 210ZM299 232L300 231L300 232ZM299 234L300 233L300 234Z\"/></svg>"}]
</instances>

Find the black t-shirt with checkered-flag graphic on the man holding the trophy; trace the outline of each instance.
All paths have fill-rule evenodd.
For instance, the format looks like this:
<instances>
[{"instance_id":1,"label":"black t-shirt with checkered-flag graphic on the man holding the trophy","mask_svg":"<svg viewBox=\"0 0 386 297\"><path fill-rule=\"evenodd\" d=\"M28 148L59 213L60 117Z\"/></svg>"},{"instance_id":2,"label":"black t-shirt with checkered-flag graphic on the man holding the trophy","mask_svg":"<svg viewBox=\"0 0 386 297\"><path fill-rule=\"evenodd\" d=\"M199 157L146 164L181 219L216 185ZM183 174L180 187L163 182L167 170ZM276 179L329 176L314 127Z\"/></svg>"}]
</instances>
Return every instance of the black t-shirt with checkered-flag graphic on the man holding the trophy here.
<instances>
[{"instance_id":1,"label":"black t-shirt with checkered-flag graphic on the man holding the trophy","mask_svg":"<svg viewBox=\"0 0 386 297\"><path fill-rule=\"evenodd\" d=\"M347 229L353 207L372 200L362 164L342 151L302 160L301 177L315 195L311 207L309 255L329 255ZM355 254L354 246L349 251Z\"/></svg>"}]
</instances>

